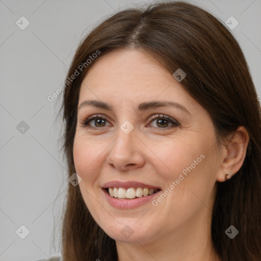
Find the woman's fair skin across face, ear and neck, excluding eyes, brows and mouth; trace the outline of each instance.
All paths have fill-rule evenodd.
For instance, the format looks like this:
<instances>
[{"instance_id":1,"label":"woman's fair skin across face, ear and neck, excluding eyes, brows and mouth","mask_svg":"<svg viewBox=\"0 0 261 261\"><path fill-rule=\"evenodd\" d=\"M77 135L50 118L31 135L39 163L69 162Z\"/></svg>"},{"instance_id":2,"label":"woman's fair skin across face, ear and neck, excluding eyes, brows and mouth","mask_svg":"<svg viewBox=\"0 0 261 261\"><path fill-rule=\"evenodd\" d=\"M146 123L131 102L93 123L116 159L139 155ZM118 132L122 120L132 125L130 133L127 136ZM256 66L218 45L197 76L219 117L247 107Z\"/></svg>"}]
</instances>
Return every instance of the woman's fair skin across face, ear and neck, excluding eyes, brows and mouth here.
<instances>
[{"instance_id":1,"label":"woman's fair skin across face, ear and neck, excluding eyes, brows and mouth","mask_svg":"<svg viewBox=\"0 0 261 261\"><path fill-rule=\"evenodd\" d=\"M84 201L98 225L116 240L119 261L220 260L211 242L215 185L225 180L225 173L229 178L240 169L249 138L239 127L219 150L210 115L181 83L149 54L135 49L99 58L82 82L79 106L94 99L113 107L79 109L73 155ZM138 111L145 101L178 102L189 113L173 107ZM89 123L92 128L82 126L96 114L108 121L102 127L95 120ZM151 119L158 114L171 117L178 126ZM134 126L129 134L120 128L125 121ZM158 205L150 201L121 210L111 206L101 190L112 180L136 180L164 192L189 166L193 170L182 175ZM126 225L133 231L129 238L121 233Z\"/></svg>"}]
</instances>

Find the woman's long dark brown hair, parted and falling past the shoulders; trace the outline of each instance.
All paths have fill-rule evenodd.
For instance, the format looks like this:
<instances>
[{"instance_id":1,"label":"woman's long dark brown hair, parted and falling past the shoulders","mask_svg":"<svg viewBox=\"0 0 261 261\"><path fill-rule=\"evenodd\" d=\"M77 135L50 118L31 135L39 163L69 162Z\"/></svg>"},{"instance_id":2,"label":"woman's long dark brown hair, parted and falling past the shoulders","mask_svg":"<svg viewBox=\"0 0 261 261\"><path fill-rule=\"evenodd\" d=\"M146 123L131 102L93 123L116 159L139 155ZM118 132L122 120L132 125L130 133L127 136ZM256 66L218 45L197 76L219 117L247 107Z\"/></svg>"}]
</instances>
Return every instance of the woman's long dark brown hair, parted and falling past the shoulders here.
<instances>
[{"instance_id":1,"label":"woman's long dark brown hair, parted and falling past the shoulders","mask_svg":"<svg viewBox=\"0 0 261 261\"><path fill-rule=\"evenodd\" d=\"M243 166L226 182L218 182L212 217L212 241L222 261L261 260L261 117L257 94L238 42L220 22L201 8L182 2L150 4L120 11L101 22L77 48L63 96L63 149L68 175L75 172L73 141L80 85L88 69L115 49L139 48L152 54L172 74L186 72L184 89L211 115L218 138L246 127L250 141ZM98 58L79 66L100 51ZM61 112L61 111L60 111ZM220 142L220 139L218 139ZM63 220L64 261L117 260L115 240L95 222L79 186L69 184ZM233 225L239 234L230 239Z\"/></svg>"}]
</instances>

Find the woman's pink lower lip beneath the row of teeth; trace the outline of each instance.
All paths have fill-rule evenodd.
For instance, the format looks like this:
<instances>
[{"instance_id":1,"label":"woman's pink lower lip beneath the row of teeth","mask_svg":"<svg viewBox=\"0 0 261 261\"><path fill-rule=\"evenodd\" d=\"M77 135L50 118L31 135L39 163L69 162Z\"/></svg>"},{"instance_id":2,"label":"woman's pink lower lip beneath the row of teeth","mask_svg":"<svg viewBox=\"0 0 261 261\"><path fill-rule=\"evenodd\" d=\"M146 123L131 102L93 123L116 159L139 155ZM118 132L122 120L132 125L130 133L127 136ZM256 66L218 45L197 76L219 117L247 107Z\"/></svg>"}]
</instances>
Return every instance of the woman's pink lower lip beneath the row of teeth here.
<instances>
[{"instance_id":1,"label":"woman's pink lower lip beneath the row of teeth","mask_svg":"<svg viewBox=\"0 0 261 261\"><path fill-rule=\"evenodd\" d=\"M119 199L119 198L114 198L111 197L107 190L102 189L103 193L105 193L105 197L108 200L109 204L111 204L114 207L117 208L122 208L122 209L129 209L129 208L135 208L138 206L141 206L145 203L148 203L149 201L152 200L153 197L158 196L158 193L161 192L161 190L159 190L158 192L152 194L152 195L148 195L146 197L142 196L139 198L134 198L134 199Z\"/></svg>"}]
</instances>

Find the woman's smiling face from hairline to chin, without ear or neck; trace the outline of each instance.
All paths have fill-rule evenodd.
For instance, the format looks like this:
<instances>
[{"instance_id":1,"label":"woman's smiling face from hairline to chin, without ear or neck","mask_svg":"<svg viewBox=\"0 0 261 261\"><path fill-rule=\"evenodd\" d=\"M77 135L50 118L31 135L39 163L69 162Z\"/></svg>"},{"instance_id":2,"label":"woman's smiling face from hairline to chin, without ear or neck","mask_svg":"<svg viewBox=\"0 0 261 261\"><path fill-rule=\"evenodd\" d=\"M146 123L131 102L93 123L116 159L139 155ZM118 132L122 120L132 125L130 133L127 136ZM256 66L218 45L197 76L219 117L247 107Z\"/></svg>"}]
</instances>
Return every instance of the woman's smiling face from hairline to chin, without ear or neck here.
<instances>
[{"instance_id":1,"label":"woman's smiling face from hairline to chin, without ear or neck","mask_svg":"<svg viewBox=\"0 0 261 261\"><path fill-rule=\"evenodd\" d=\"M210 224L214 125L181 84L138 50L101 57L82 82L75 169L91 215L117 241L186 237Z\"/></svg>"}]
</instances>

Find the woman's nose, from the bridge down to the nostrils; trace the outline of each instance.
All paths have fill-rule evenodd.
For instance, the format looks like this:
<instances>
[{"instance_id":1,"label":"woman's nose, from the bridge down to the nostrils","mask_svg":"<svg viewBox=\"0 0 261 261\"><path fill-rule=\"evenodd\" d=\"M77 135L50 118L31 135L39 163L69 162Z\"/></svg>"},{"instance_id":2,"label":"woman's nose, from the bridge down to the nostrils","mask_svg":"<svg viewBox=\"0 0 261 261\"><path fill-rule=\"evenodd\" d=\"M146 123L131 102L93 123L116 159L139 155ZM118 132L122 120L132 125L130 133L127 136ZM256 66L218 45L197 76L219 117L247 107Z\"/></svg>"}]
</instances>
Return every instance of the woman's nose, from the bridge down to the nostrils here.
<instances>
[{"instance_id":1,"label":"woman's nose, from the bridge down to the nostrils","mask_svg":"<svg viewBox=\"0 0 261 261\"><path fill-rule=\"evenodd\" d=\"M145 164L145 156L142 152L142 142L136 136L135 130L125 134L120 128L118 137L109 147L107 163L118 171L126 172L140 168Z\"/></svg>"}]
</instances>

